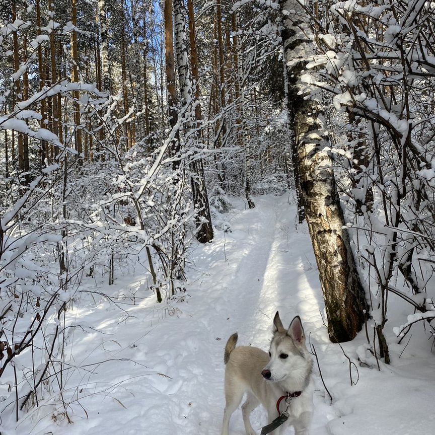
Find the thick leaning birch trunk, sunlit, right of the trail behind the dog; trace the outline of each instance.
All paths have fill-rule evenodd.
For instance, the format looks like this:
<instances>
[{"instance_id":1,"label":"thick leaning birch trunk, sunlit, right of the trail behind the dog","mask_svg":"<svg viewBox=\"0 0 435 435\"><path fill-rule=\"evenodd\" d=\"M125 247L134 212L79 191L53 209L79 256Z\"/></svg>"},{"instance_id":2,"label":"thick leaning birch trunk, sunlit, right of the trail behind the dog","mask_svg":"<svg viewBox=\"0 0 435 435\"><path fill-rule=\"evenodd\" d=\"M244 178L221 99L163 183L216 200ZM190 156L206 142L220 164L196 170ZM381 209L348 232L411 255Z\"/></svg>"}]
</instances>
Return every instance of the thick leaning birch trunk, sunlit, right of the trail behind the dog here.
<instances>
[{"instance_id":1,"label":"thick leaning birch trunk, sunlit, right of the trail behind the dog","mask_svg":"<svg viewBox=\"0 0 435 435\"><path fill-rule=\"evenodd\" d=\"M329 143L323 114L316 101L305 99L311 90L301 87L301 73L312 54L311 31L304 23L304 10L297 1L283 1L280 8L288 121L295 133L300 194L319 269L329 336L334 342L348 341L363 326L367 302L349 236L342 229L344 216L331 156L323 151Z\"/></svg>"}]
</instances>

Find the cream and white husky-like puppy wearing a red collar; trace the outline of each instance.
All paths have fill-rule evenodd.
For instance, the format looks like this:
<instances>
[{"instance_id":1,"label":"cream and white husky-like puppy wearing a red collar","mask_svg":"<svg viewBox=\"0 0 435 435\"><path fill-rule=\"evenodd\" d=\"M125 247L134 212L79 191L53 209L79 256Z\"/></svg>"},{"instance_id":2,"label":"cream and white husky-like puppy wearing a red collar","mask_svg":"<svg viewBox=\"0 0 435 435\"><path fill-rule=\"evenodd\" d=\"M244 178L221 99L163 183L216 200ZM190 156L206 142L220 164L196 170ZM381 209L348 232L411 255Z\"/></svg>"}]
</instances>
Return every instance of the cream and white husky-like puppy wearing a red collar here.
<instances>
[{"instance_id":1,"label":"cream and white husky-like puppy wearing a red collar","mask_svg":"<svg viewBox=\"0 0 435 435\"><path fill-rule=\"evenodd\" d=\"M285 427L293 425L295 435L308 435L313 407L313 359L305 345L300 317L296 316L284 329L276 312L269 354L257 347L236 347L237 338L237 333L233 334L225 346L226 406L222 435L229 435L230 417L244 393L247 397L242 415L246 435L256 433L249 415L260 403L267 410L269 424L280 415L285 420L288 414L288 419L270 433L283 434Z\"/></svg>"}]
</instances>

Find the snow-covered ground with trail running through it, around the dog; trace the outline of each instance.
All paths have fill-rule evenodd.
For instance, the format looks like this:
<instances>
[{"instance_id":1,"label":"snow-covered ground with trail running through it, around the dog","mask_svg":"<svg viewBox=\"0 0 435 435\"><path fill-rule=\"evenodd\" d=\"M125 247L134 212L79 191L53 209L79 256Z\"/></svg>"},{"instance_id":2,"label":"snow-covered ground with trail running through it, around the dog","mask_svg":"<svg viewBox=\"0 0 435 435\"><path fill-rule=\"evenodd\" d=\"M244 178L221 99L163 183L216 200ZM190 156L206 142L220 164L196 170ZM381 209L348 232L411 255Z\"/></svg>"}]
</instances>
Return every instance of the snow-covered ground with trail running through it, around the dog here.
<instances>
[{"instance_id":1,"label":"snow-covered ground with trail running through it, around the dog","mask_svg":"<svg viewBox=\"0 0 435 435\"><path fill-rule=\"evenodd\" d=\"M212 243L195 245L186 292L170 305L155 303L145 275L118 277L115 285L100 289L113 297L127 296L121 305L125 311L84 293L69 312L82 326L67 348L70 364L77 368L68 373L63 395L74 424L58 412L60 406L46 405L23 418L17 431L4 419L2 434L219 435L226 340L238 331L239 344L267 350L279 310L284 324L301 316L334 399L330 404L315 365L312 435L433 435L435 358L428 337L415 327L408 346L407 339L395 344L392 328L395 319L403 323L404 313L400 304L392 305L397 309L386 326L392 365L381 363L379 372L368 357L372 368L359 366L357 354L364 354L367 342L361 332L342 346L355 364L352 380L358 382L351 386L349 361L329 342L323 325L306 225L295 224L296 208L287 195L257 197L255 203L255 209L247 210L235 202L226 216L231 232L216 230ZM251 421L259 433L266 422L261 407ZM244 434L240 410L230 430Z\"/></svg>"}]
</instances>

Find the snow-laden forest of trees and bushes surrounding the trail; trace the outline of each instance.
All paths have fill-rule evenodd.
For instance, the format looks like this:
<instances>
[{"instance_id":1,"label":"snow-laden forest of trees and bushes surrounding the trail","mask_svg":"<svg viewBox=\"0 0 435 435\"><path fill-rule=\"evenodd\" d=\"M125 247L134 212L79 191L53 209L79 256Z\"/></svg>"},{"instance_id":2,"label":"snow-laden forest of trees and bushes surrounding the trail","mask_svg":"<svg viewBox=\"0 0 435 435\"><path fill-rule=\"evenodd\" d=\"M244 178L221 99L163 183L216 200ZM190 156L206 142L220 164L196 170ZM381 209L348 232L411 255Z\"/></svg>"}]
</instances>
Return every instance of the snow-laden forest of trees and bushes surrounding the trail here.
<instances>
[{"instance_id":1,"label":"snow-laden forest of trees and bushes surrounding the trail","mask_svg":"<svg viewBox=\"0 0 435 435\"><path fill-rule=\"evenodd\" d=\"M0 57L2 415L69 421L79 295L183 299L234 197L294 192L359 363L391 362L392 298L433 342L433 2L2 0Z\"/></svg>"}]
</instances>

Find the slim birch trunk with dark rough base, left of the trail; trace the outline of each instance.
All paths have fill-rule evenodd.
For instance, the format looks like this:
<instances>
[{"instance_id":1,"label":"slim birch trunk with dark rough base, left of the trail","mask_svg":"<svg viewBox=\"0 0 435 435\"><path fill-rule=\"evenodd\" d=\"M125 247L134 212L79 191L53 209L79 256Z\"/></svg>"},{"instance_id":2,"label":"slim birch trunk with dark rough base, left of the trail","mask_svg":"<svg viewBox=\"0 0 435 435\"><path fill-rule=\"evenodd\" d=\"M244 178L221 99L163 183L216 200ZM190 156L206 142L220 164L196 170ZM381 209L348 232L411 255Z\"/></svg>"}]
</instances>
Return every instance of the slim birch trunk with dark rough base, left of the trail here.
<instances>
[{"instance_id":1,"label":"slim birch trunk with dark rough base, left of the trail","mask_svg":"<svg viewBox=\"0 0 435 435\"><path fill-rule=\"evenodd\" d=\"M176 55L178 65L178 79L180 82L181 105L185 110L184 116L184 137L186 141L186 151L194 147L194 137L198 136L193 131L192 113L193 92L190 78L189 62L186 46L186 17L183 0L174 0L174 23L175 23L175 41ZM191 183L193 193L193 203L197 215L196 224L198 231L196 238L201 243L209 242L213 239L213 228L211 226L210 206L208 203L207 187L205 185L204 167L202 159L195 156L190 157L190 170L192 171Z\"/></svg>"}]
</instances>

